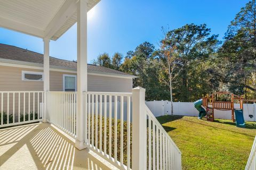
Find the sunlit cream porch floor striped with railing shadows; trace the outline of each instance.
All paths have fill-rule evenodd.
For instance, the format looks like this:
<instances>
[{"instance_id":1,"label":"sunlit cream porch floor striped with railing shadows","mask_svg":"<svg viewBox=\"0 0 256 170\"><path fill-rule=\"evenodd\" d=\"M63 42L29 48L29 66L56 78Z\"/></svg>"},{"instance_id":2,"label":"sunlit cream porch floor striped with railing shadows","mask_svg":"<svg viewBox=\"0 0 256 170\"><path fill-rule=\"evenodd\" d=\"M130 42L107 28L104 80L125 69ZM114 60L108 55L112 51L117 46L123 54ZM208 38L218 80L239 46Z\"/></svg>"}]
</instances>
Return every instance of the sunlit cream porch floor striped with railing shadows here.
<instances>
[{"instance_id":1,"label":"sunlit cream porch floor striped with railing shadows","mask_svg":"<svg viewBox=\"0 0 256 170\"><path fill-rule=\"evenodd\" d=\"M0 130L0 169L113 169L49 123Z\"/></svg>"}]
</instances>

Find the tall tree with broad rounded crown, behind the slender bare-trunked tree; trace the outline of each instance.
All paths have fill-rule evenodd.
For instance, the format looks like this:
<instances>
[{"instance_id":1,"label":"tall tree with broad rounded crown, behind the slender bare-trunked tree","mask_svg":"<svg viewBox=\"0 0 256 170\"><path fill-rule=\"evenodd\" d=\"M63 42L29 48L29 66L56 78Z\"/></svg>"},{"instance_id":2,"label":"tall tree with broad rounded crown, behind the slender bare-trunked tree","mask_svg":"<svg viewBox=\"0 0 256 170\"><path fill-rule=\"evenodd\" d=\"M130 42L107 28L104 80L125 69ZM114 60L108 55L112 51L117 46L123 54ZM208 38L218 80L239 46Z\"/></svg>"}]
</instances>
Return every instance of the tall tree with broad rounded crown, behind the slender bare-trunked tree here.
<instances>
[{"instance_id":1,"label":"tall tree with broad rounded crown, behind the slender bare-trunked tree","mask_svg":"<svg viewBox=\"0 0 256 170\"><path fill-rule=\"evenodd\" d=\"M191 100L191 63L193 61L204 61L210 57L218 45L216 35L210 36L211 30L206 24L186 24L181 28L168 31L166 41L175 47L175 54L179 58L179 67L183 67L180 76L177 78L181 83L177 84L175 96L179 101ZM195 84L196 86L196 84Z\"/></svg>"}]
</instances>

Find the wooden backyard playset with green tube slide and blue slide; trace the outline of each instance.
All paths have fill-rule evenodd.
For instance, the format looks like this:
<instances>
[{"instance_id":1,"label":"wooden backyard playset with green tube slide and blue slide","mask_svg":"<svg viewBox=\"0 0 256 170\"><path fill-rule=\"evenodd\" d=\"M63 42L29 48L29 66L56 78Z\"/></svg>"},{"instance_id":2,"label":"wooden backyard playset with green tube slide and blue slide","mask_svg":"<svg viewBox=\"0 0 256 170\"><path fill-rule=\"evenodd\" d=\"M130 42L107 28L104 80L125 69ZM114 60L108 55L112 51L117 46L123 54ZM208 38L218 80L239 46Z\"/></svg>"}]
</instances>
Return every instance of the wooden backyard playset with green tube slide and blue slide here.
<instances>
[{"instance_id":1,"label":"wooden backyard playset with green tube slide and blue slide","mask_svg":"<svg viewBox=\"0 0 256 170\"><path fill-rule=\"evenodd\" d=\"M236 126L244 128L243 116L243 97L231 94L226 91L215 92L212 95L206 95L202 99L195 101L195 108L199 111L198 118L206 116L207 121L214 121L214 109L221 111L231 111L231 120L236 122ZM234 103L238 103L239 107L235 108Z\"/></svg>"}]
</instances>

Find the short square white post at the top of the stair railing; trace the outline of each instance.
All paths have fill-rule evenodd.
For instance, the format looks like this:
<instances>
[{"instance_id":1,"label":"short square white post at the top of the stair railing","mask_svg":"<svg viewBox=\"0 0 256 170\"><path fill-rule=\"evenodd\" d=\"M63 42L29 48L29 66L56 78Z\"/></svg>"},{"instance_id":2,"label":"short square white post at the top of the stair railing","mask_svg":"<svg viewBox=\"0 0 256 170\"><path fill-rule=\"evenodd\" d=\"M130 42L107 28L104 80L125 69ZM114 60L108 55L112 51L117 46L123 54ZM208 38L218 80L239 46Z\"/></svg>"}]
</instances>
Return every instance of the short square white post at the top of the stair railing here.
<instances>
[{"instance_id":1,"label":"short square white post at the top of the stair railing","mask_svg":"<svg viewBox=\"0 0 256 170\"><path fill-rule=\"evenodd\" d=\"M132 89L132 169L147 169L145 89Z\"/></svg>"}]
</instances>

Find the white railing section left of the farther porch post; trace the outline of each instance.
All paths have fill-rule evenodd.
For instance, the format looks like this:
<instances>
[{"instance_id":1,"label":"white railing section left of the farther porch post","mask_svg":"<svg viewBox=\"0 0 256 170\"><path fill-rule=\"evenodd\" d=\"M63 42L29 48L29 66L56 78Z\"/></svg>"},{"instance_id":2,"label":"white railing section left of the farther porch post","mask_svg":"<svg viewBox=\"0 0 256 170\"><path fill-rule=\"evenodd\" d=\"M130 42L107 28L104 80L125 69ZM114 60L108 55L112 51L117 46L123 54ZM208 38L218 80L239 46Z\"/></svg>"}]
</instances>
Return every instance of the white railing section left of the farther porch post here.
<instances>
[{"instance_id":1,"label":"white railing section left of the farther porch post","mask_svg":"<svg viewBox=\"0 0 256 170\"><path fill-rule=\"evenodd\" d=\"M43 91L0 91L0 128L42 120Z\"/></svg>"}]
</instances>

